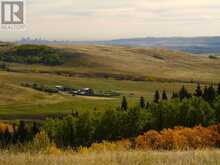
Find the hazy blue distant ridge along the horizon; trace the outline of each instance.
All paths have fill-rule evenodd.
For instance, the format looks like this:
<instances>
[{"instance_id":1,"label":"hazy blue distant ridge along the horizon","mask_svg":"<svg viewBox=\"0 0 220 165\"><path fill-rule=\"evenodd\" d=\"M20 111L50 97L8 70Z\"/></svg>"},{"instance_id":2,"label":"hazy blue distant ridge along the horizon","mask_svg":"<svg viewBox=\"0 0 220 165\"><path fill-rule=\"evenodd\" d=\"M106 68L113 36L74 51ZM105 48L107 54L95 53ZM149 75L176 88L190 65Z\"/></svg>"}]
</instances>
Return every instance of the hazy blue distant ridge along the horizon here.
<instances>
[{"instance_id":1,"label":"hazy blue distant ridge along the horizon","mask_svg":"<svg viewBox=\"0 0 220 165\"><path fill-rule=\"evenodd\" d=\"M195 54L220 53L220 37L146 37L131 39L115 39L107 41L49 41L43 39L23 38L22 44L102 44L139 46L145 48L167 48Z\"/></svg>"}]
</instances>

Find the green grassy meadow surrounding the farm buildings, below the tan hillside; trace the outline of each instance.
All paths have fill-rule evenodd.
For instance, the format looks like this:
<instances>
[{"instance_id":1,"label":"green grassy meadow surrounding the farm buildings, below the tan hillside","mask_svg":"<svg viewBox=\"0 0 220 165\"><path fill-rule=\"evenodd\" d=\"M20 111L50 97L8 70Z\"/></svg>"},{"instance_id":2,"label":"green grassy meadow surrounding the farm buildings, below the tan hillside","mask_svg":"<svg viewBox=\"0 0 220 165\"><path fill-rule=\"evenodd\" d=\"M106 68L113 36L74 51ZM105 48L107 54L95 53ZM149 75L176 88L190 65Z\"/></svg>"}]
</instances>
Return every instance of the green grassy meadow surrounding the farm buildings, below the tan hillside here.
<instances>
[{"instance_id":1,"label":"green grassy meadow surrounding the farm buildings, below the tan hillside","mask_svg":"<svg viewBox=\"0 0 220 165\"><path fill-rule=\"evenodd\" d=\"M166 90L169 95L182 85L194 90L196 84L179 82L153 82L115 80L112 78L65 77L42 73L0 72L0 116L2 119L41 119L54 114L71 113L73 110L103 111L120 106L121 97L127 96L130 106L138 103L140 96L152 100L155 90ZM48 94L21 86L22 82L36 82L49 86L89 87L96 91L117 91L119 97L83 97L68 94Z\"/></svg>"}]
</instances>

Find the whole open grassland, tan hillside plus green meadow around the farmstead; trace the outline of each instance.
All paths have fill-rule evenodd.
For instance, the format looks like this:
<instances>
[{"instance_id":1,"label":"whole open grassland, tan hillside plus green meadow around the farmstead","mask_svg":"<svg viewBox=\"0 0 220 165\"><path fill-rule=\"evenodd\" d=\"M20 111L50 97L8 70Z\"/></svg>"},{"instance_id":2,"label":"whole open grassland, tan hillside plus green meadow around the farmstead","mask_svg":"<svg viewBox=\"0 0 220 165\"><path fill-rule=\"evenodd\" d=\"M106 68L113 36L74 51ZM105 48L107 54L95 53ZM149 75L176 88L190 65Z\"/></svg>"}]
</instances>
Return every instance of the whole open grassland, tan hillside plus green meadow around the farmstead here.
<instances>
[{"instance_id":1,"label":"whole open grassland, tan hillside plus green meadow around the farmstead","mask_svg":"<svg viewBox=\"0 0 220 165\"><path fill-rule=\"evenodd\" d=\"M218 83L220 60L208 56L118 46L53 46L68 60L58 66L7 63L0 71L0 119L42 119L72 111L104 111L120 106L127 96L129 105L140 96L151 101L155 90L169 95L182 85L193 91L196 81ZM1 51L1 49L0 49ZM138 80L138 81L137 81ZM89 87L95 91L115 91L113 98L48 94L21 83L34 82L54 87Z\"/></svg>"}]
</instances>

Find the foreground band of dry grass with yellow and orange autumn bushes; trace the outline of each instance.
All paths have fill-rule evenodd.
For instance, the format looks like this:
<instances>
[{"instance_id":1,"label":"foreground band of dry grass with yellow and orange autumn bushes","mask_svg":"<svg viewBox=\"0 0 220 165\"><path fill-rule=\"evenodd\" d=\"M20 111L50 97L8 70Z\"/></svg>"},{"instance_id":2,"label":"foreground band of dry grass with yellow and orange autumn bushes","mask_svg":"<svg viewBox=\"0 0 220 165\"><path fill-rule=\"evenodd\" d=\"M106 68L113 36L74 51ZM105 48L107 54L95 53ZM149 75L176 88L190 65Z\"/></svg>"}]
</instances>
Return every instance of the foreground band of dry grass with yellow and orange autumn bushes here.
<instances>
[{"instance_id":1,"label":"foreground band of dry grass with yellow and orange autumn bushes","mask_svg":"<svg viewBox=\"0 0 220 165\"><path fill-rule=\"evenodd\" d=\"M148 131L135 139L104 141L78 149L57 148L46 132L40 132L30 143L1 149L0 164L218 165L220 151L214 148L219 146L220 125Z\"/></svg>"}]
</instances>

